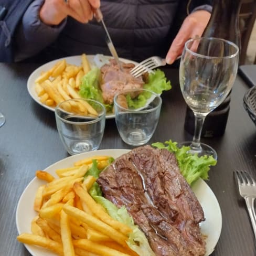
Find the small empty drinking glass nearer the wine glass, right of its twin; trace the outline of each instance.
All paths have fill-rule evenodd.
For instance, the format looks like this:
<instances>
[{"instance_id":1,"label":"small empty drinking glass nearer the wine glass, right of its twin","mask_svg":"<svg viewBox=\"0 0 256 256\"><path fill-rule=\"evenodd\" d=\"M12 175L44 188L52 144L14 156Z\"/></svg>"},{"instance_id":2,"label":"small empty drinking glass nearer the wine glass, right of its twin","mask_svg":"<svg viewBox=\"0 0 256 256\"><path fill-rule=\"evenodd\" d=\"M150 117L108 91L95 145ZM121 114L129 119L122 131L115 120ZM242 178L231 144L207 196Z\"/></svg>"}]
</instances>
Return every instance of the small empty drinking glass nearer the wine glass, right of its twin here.
<instances>
[{"instance_id":1,"label":"small empty drinking glass nearer the wine glass, right of its twin","mask_svg":"<svg viewBox=\"0 0 256 256\"><path fill-rule=\"evenodd\" d=\"M122 140L132 146L147 143L153 136L161 111L158 94L131 89L114 97L115 122Z\"/></svg>"}]
</instances>

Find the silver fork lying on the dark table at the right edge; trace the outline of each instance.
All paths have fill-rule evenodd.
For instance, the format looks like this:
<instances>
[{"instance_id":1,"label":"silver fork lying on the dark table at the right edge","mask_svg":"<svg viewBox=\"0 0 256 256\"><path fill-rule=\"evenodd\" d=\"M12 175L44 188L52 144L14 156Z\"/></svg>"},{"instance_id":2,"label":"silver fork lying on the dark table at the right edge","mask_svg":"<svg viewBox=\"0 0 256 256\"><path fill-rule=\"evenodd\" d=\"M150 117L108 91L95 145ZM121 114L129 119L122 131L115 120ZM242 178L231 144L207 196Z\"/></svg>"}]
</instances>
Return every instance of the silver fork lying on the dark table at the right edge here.
<instances>
[{"instance_id":1,"label":"silver fork lying on the dark table at the right edge","mask_svg":"<svg viewBox=\"0 0 256 256\"><path fill-rule=\"evenodd\" d=\"M247 209L252 223L256 239L256 215L254 210L254 199L256 197L256 182L247 172L237 170L234 172L237 177L239 193L246 200Z\"/></svg>"}]
</instances>

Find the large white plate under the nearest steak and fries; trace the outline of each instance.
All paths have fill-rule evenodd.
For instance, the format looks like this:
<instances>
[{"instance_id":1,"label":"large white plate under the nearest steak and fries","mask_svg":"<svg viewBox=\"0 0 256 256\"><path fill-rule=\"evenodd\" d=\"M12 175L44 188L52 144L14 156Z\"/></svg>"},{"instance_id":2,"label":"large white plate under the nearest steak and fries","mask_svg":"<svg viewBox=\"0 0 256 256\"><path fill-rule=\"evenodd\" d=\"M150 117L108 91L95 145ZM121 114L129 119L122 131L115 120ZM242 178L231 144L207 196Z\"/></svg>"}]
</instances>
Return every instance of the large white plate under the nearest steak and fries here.
<instances>
[{"instance_id":1,"label":"large white plate under the nearest steak and fries","mask_svg":"<svg viewBox=\"0 0 256 256\"><path fill-rule=\"evenodd\" d=\"M86 157L92 157L95 155L109 155L114 158L129 152L129 150L99 150L86 152L78 155L73 155L62 159L61 161L50 165L45 170L50 174L56 176L55 170L60 168L66 168L73 166L73 163ZM28 232L30 233L31 220L37 215L37 212L33 210L34 195L38 186L44 184L44 182L38 178L34 178L27 185L20 196L18 206L16 209L16 225L18 233ZM221 227L222 227L222 216L218 200L210 187L199 179L192 187L195 195L197 196L202 209L205 212L206 220L201 223L200 228L202 234L206 236L206 255L208 256L214 251L214 248L219 240ZM30 246L25 244L27 250L33 256L56 256L56 254L40 247Z\"/></svg>"}]
</instances>

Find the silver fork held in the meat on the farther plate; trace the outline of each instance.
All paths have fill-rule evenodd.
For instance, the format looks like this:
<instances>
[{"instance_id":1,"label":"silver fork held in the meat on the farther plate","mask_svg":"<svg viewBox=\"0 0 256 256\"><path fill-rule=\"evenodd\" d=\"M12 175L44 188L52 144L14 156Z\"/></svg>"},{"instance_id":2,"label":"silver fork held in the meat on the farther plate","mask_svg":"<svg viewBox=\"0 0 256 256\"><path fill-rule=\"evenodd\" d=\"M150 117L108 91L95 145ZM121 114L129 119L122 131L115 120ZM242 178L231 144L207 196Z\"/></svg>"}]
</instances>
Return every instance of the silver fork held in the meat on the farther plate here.
<instances>
[{"instance_id":1,"label":"silver fork held in the meat on the farther plate","mask_svg":"<svg viewBox=\"0 0 256 256\"><path fill-rule=\"evenodd\" d=\"M135 66L130 71L130 73L134 77L139 77L145 72L151 72L154 68L165 66L165 65L166 65L165 59L162 59L161 57L158 57L158 56L153 56L138 63L138 65Z\"/></svg>"}]
</instances>

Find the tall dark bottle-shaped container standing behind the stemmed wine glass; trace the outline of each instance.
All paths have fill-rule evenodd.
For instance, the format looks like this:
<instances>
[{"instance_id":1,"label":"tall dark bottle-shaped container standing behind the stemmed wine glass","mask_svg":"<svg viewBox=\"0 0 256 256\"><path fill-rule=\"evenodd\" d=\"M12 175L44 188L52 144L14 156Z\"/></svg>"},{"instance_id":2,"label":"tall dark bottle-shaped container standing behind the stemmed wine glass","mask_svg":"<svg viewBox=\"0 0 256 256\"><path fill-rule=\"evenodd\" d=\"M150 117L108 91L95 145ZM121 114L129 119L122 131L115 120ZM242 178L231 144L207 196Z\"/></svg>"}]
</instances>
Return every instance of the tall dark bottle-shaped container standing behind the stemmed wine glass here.
<instances>
[{"instance_id":1,"label":"tall dark bottle-shaped container standing behind the stemmed wine glass","mask_svg":"<svg viewBox=\"0 0 256 256\"><path fill-rule=\"evenodd\" d=\"M234 42L240 49L239 12L241 0L214 0L212 14L203 37L218 37ZM201 137L218 137L225 133L230 93L218 108L206 116ZM194 134L194 113L187 107L184 128Z\"/></svg>"}]
</instances>

